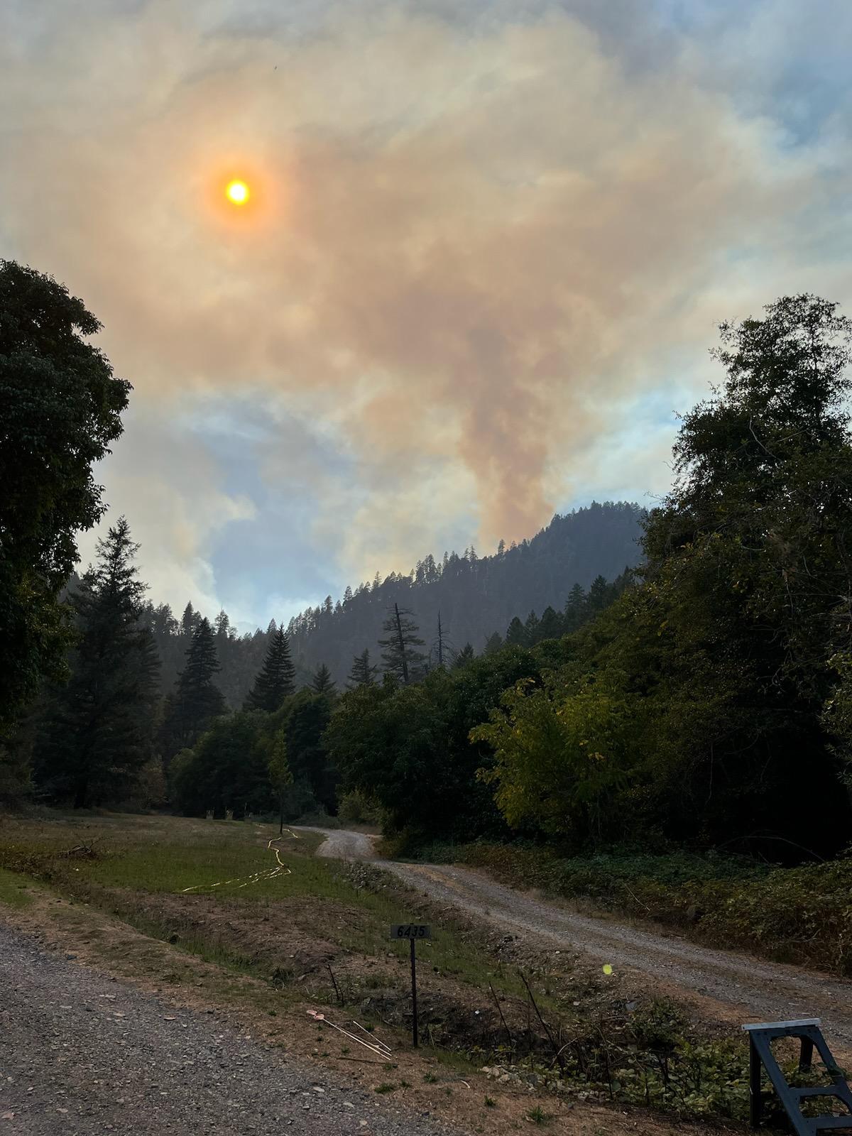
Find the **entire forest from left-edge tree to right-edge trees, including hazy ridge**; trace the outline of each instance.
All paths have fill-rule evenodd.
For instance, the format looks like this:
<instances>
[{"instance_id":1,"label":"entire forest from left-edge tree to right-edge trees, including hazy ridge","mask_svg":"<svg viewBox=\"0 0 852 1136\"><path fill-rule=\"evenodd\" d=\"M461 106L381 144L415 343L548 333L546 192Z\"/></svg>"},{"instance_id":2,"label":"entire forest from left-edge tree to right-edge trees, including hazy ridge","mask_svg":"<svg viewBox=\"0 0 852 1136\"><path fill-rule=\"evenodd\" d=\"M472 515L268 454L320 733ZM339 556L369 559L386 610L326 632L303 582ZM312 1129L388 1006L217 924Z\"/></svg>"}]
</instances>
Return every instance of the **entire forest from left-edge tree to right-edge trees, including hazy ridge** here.
<instances>
[{"instance_id":1,"label":"entire forest from left-edge tree to right-edge trees, including hazy ridge","mask_svg":"<svg viewBox=\"0 0 852 1136\"><path fill-rule=\"evenodd\" d=\"M56 282L7 262L0 301L6 800L323 810L415 843L849 845L852 323L835 304L787 296L721 326L721 382L683 417L646 516L595 504L239 637L224 612L145 601L125 518L68 585L128 390ZM58 406L62 429L40 435ZM34 437L55 461L32 460Z\"/></svg>"}]
</instances>

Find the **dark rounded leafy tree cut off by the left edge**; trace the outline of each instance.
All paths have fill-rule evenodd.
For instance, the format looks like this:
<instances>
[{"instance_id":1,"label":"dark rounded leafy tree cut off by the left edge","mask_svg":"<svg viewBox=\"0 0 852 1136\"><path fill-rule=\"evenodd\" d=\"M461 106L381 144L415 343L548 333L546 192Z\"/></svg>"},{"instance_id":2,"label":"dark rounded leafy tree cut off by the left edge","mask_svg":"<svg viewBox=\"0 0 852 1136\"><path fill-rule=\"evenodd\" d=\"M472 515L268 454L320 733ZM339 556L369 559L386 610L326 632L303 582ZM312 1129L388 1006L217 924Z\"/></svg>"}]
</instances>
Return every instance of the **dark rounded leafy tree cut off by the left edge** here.
<instances>
[{"instance_id":1,"label":"dark rounded leafy tree cut off by the left edge","mask_svg":"<svg viewBox=\"0 0 852 1136\"><path fill-rule=\"evenodd\" d=\"M105 510L92 466L122 433L131 386L85 342L100 328L50 276L0 260L0 734L64 674L58 595L75 533Z\"/></svg>"}]
</instances>

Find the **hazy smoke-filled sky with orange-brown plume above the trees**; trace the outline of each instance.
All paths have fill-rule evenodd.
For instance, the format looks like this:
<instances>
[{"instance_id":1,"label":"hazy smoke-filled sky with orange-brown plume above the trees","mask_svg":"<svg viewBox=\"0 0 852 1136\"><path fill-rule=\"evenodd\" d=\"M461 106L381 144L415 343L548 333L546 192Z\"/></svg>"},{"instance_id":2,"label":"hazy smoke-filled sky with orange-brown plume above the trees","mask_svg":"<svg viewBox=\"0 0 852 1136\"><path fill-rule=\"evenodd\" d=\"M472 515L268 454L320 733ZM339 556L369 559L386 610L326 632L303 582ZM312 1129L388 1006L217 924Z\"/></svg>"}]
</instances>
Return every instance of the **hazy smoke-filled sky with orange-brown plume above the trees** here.
<instances>
[{"instance_id":1,"label":"hazy smoke-filled sky with orange-brown plume above the trees","mask_svg":"<svg viewBox=\"0 0 852 1136\"><path fill-rule=\"evenodd\" d=\"M152 598L265 626L663 492L716 325L852 299L850 43L849 0L5 0L0 256L134 385L99 478Z\"/></svg>"}]
</instances>

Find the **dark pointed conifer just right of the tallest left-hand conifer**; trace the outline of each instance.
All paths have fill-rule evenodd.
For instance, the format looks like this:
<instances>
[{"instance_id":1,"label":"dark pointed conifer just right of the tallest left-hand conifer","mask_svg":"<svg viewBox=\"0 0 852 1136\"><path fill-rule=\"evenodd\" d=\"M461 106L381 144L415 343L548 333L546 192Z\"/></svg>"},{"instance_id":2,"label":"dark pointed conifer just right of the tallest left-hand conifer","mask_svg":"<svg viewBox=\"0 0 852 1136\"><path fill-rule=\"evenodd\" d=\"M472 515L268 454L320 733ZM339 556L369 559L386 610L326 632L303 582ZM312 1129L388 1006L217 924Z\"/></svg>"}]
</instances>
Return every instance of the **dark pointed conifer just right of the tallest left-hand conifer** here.
<instances>
[{"instance_id":1,"label":"dark pointed conifer just right of the tallest left-hand conifer","mask_svg":"<svg viewBox=\"0 0 852 1136\"><path fill-rule=\"evenodd\" d=\"M175 692L166 700L162 742L168 758L193 746L214 719L225 713L225 698L212 682L218 670L216 636L204 618L192 634Z\"/></svg>"}]
</instances>

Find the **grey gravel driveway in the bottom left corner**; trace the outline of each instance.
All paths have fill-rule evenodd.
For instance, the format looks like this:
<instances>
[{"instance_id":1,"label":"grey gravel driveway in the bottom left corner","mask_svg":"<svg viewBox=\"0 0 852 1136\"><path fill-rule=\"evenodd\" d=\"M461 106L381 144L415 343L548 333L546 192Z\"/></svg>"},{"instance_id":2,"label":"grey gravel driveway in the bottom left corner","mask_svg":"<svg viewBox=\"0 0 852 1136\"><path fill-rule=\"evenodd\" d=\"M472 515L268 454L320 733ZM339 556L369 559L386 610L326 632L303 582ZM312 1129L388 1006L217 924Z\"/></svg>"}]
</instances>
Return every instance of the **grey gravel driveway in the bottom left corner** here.
<instances>
[{"instance_id":1,"label":"grey gravel driveway in the bottom left corner","mask_svg":"<svg viewBox=\"0 0 852 1136\"><path fill-rule=\"evenodd\" d=\"M0 992L0 1136L450 1136L2 924Z\"/></svg>"}]
</instances>

